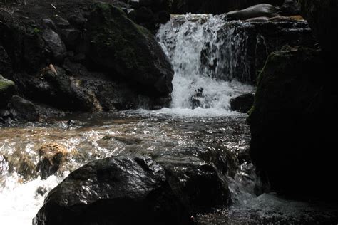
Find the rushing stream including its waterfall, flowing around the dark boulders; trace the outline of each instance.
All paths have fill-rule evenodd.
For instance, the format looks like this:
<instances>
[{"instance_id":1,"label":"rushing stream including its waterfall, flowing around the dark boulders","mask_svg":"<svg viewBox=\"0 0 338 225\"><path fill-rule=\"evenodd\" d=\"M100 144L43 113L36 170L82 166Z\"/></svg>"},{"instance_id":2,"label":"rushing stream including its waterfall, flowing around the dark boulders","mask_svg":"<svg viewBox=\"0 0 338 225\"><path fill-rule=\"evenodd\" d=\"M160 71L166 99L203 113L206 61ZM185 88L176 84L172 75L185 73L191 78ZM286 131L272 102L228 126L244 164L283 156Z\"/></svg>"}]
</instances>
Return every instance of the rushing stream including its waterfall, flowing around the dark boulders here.
<instances>
[{"instance_id":1,"label":"rushing stream including its waterfall, flowing around the dark boulders","mask_svg":"<svg viewBox=\"0 0 338 225\"><path fill-rule=\"evenodd\" d=\"M330 204L290 201L275 194L257 197L260 180L248 156L246 115L230 112L230 98L254 90L233 79L243 80L249 73L244 69L238 74L235 66L246 66L245 38L233 37L229 30L229 38L220 39L224 24L220 16L187 15L175 16L160 28L158 40L175 70L171 108L70 114L0 127L0 224L31 224L48 191L91 160L194 147L233 157L232 176L224 177L232 206L198 215L198 224L337 221L337 208ZM68 157L56 174L41 179L36 172L38 150L46 143L64 147Z\"/></svg>"}]
</instances>

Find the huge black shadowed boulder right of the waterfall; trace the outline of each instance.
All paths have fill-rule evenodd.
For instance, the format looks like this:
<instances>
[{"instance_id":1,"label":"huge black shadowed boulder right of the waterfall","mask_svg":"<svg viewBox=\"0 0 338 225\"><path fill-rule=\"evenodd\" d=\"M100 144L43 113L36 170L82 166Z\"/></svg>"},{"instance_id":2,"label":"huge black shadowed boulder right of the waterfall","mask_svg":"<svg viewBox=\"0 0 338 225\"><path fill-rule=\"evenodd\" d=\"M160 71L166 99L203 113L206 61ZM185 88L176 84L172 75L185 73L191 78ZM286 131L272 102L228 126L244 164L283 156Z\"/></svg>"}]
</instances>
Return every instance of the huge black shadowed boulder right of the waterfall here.
<instances>
[{"instance_id":1,"label":"huge black shadowed boulder right of the waterfall","mask_svg":"<svg viewBox=\"0 0 338 225\"><path fill-rule=\"evenodd\" d=\"M279 192L337 197L337 144L327 125L338 124L338 93L330 70L319 51L301 47L272 53L260 74L250 155Z\"/></svg>"}]
</instances>

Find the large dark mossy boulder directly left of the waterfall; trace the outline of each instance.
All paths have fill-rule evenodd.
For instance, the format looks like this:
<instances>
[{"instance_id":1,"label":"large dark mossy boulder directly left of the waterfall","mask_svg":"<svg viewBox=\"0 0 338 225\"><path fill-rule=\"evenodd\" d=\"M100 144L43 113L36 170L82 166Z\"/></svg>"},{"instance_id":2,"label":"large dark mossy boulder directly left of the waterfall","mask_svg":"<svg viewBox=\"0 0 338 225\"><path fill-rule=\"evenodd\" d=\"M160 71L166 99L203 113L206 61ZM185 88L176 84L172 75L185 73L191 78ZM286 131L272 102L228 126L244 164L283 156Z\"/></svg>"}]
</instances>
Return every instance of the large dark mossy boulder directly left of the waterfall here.
<instances>
[{"instance_id":1,"label":"large dark mossy boulder directly left of the waterfall","mask_svg":"<svg viewBox=\"0 0 338 225\"><path fill-rule=\"evenodd\" d=\"M173 90L173 68L148 30L109 4L93 6L88 21L87 57L93 63L148 95L168 95Z\"/></svg>"}]
</instances>

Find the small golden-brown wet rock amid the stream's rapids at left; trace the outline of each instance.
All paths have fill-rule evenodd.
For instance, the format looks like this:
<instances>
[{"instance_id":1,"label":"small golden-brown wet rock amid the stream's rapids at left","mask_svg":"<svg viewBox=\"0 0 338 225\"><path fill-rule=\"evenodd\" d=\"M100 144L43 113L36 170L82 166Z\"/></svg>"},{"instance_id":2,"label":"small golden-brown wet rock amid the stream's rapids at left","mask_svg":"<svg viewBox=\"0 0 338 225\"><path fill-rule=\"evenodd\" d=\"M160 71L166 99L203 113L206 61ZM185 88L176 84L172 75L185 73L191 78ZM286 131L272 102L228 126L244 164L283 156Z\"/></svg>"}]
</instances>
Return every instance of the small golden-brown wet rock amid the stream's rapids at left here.
<instances>
[{"instance_id":1,"label":"small golden-brown wet rock amid the stream's rapids at left","mask_svg":"<svg viewBox=\"0 0 338 225\"><path fill-rule=\"evenodd\" d=\"M55 174L69 155L66 147L53 142L43 144L38 152L40 160L36 169L40 172L42 179Z\"/></svg>"}]
</instances>

